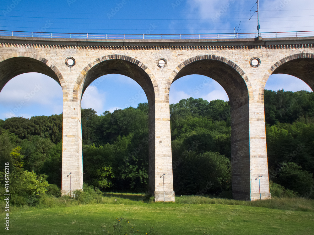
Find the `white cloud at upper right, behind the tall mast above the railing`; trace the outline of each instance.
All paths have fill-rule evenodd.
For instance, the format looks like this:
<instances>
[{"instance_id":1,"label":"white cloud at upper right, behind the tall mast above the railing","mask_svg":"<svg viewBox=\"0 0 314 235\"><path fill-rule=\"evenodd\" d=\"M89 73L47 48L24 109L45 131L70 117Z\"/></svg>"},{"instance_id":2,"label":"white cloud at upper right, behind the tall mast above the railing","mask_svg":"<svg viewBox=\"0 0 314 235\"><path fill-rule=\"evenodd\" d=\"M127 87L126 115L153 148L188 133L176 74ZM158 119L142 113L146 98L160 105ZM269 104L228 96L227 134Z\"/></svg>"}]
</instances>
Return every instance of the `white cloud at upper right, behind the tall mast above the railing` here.
<instances>
[{"instance_id":1,"label":"white cloud at upper right, behind the tall mast above the railing","mask_svg":"<svg viewBox=\"0 0 314 235\"><path fill-rule=\"evenodd\" d=\"M191 33L199 33L200 29L209 33L233 33L233 28L240 21L239 33L257 32L257 13L249 20L254 13L250 9L257 10L254 4L255 1L248 0L190 0L184 11L187 14L201 13L196 15L201 19L200 24L196 27L191 25ZM260 1L260 32L314 30L313 8L314 1L308 0Z\"/></svg>"}]
</instances>

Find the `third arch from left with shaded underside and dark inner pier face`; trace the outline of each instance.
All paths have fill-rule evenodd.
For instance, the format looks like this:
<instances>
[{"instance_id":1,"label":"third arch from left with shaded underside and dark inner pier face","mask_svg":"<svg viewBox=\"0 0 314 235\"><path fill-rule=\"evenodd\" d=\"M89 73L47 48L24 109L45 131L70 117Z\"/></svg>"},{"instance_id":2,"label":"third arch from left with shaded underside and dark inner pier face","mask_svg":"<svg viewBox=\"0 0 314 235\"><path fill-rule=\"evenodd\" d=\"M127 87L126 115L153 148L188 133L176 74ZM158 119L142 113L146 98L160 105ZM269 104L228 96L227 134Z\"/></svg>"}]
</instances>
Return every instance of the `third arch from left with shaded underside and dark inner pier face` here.
<instances>
[{"instance_id":1,"label":"third arch from left with shaded underside and dark inner pier face","mask_svg":"<svg viewBox=\"0 0 314 235\"><path fill-rule=\"evenodd\" d=\"M168 80L168 98L172 82L199 74L217 81L226 91L231 106L231 164L232 194L238 200L250 200L250 82L244 71L234 62L220 56L202 55L185 60L172 72ZM167 98L167 97L166 97Z\"/></svg>"}]
</instances>

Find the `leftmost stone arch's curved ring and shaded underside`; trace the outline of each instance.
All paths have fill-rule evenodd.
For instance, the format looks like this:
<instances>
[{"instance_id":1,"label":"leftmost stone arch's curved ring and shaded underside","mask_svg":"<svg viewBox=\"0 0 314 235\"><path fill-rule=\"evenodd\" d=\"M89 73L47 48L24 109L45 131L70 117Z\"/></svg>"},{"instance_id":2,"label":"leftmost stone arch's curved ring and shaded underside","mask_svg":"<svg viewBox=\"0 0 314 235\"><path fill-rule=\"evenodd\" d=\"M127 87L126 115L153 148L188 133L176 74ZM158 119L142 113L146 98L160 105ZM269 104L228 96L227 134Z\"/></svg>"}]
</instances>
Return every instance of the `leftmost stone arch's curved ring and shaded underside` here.
<instances>
[{"instance_id":1,"label":"leftmost stone arch's curved ring and shaded underside","mask_svg":"<svg viewBox=\"0 0 314 235\"><path fill-rule=\"evenodd\" d=\"M60 70L40 55L21 52L0 56L0 91L13 77L23 73L45 74L59 83L63 97L67 97L67 87Z\"/></svg>"}]
</instances>

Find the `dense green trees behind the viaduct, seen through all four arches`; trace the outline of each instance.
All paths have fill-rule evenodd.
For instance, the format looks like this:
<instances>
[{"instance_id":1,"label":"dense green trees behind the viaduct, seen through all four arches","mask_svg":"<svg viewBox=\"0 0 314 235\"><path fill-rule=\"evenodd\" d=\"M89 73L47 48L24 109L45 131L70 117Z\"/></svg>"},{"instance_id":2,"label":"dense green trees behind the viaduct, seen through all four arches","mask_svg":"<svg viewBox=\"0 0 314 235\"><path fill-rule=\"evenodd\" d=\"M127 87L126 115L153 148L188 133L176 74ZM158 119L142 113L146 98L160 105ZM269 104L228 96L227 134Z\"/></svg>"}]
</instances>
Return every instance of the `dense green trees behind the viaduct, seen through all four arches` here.
<instances>
[{"instance_id":1,"label":"dense green trees behind the viaduct, seen through all four arches","mask_svg":"<svg viewBox=\"0 0 314 235\"><path fill-rule=\"evenodd\" d=\"M271 185L313 197L314 94L265 90L264 100ZM81 117L84 182L102 191L147 191L148 104L101 115L82 109ZM174 191L230 195L229 102L183 99L170 105L170 118ZM16 182L60 187L62 114L0 120L0 161L14 166Z\"/></svg>"}]
</instances>

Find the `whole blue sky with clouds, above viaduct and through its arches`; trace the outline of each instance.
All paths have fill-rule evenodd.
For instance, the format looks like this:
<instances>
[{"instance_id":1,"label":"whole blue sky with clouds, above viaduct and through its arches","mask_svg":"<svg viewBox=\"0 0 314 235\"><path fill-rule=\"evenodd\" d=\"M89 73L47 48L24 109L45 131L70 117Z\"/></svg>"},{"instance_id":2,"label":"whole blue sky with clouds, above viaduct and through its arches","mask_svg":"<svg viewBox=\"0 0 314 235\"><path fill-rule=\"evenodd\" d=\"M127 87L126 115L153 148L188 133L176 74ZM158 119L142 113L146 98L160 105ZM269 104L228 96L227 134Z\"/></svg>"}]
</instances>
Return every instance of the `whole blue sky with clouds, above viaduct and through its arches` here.
<instances>
[{"instance_id":1,"label":"whole blue sky with clouds, above viaduct and through its arches","mask_svg":"<svg viewBox=\"0 0 314 235\"><path fill-rule=\"evenodd\" d=\"M2 0L0 30L112 33L190 34L256 32L257 14L251 20L255 0L170 0L92 1L82 0ZM256 9L256 5L253 10ZM261 32L314 30L314 2L308 0L260 0ZM39 89L40 88L40 89ZM271 75L266 89L311 91L303 81L288 75ZM175 81L170 102L183 98L228 100L214 80L191 75ZM84 93L83 108L98 114L147 102L142 88L131 78L106 75L96 79ZM19 75L0 93L0 119L30 118L62 112L62 89L53 79L38 73Z\"/></svg>"}]
</instances>

